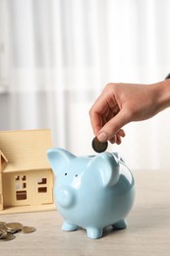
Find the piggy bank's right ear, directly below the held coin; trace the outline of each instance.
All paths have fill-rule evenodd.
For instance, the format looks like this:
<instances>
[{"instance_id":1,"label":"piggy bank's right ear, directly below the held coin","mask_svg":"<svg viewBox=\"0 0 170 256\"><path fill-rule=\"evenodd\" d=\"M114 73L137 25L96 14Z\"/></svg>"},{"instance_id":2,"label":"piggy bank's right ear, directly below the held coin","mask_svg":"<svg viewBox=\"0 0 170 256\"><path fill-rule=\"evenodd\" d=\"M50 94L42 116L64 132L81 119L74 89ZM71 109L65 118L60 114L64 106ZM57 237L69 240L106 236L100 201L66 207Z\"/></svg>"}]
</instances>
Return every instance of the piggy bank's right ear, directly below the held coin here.
<instances>
[{"instance_id":1,"label":"piggy bank's right ear, directly below the held coin","mask_svg":"<svg viewBox=\"0 0 170 256\"><path fill-rule=\"evenodd\" d=\"M101 153L91 160L91 171L97 172L103 186L115 185L119 179L119 160L113 154Z\"/></svg>"}]
</instances>

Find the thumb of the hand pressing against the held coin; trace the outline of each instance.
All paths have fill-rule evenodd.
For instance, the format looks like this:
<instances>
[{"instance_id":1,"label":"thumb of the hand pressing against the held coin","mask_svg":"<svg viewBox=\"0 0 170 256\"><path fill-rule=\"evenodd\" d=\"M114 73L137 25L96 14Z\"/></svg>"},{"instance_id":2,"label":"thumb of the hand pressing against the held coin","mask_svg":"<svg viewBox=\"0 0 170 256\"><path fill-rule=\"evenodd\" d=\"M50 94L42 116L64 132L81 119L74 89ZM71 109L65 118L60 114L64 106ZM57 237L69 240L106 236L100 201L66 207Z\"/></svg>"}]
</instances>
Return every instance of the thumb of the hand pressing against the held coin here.
<instances>
[{"instance_id":1,"label":"thumb of the hand pressing against the held coin","mask_svg":"<svg viewBox=\"0 0 170 256\"><path fill-rule=\"evenodd\" d=\"M126 111L119 111L112 119L110 119L98 132L97 139L100 142L105 142L113 138L118 131L127 123L130 122L130 117Z\"/></svg>"}]
</instances>

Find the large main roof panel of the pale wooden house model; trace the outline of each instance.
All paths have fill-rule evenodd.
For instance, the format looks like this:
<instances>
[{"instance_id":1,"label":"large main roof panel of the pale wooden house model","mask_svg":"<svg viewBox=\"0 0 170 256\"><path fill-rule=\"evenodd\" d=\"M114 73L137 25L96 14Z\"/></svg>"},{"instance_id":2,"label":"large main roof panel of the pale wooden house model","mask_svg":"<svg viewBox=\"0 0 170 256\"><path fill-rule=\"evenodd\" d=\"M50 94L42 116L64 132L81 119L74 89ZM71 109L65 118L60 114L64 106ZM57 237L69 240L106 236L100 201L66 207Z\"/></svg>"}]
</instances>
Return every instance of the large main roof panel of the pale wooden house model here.
<instances>
[{"instance_id":1,"label":"large main roof panel of the pale wooden house model","mask_svg":"<svg viewBox=\"0 0 170 256\"><path fill-rule=\"evenodd\" d=\"M46 152L51 147L48 129L0 132L0 155L8 161L3 172L50 168Z\"/></svg>"}]
</instances>

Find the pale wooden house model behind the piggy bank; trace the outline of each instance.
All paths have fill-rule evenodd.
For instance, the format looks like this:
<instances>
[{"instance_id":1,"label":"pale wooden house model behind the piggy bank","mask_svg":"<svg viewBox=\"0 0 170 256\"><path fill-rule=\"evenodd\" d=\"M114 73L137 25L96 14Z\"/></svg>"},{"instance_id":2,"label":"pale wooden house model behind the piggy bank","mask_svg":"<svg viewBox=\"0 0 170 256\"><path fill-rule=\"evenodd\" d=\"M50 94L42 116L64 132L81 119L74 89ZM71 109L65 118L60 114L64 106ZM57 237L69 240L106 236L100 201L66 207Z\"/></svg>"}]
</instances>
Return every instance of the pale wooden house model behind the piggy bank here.
<instances>
[{"instance_id":1,"label":"pale wooden house model behind the piggy bank","mask_svg":"<svg viewBox=\"0 0 170 256\"><path fill-rule=\"evenodd\" d=\"M50 130L0 132L0 214L54 209Z\"/></svg>"}]
</instances>

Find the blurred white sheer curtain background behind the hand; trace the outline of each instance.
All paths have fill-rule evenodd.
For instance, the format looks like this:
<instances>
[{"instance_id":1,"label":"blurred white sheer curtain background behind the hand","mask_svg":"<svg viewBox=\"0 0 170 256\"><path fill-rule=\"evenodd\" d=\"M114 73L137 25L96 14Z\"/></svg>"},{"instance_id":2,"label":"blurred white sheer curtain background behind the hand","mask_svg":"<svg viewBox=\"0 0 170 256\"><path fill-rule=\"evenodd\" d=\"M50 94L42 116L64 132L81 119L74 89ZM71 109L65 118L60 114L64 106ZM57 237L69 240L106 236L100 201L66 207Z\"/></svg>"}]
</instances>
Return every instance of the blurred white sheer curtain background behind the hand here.
<instances>
[{"instance_id":1,"label":"blurred white sheer curtain background behind the hand","mask_svg":"<svg viewBox=\"0 0 170 256\"><path fill-rule=\"evenodd\" d=\"M169 14L169 0L0 0L0 130L50 128L54 147L94 154L88 110L104 86L170 72ZM125 131L110 152L170 167L170 109Z\"/></svg>"}]
</instances>

